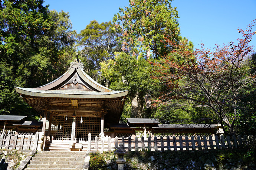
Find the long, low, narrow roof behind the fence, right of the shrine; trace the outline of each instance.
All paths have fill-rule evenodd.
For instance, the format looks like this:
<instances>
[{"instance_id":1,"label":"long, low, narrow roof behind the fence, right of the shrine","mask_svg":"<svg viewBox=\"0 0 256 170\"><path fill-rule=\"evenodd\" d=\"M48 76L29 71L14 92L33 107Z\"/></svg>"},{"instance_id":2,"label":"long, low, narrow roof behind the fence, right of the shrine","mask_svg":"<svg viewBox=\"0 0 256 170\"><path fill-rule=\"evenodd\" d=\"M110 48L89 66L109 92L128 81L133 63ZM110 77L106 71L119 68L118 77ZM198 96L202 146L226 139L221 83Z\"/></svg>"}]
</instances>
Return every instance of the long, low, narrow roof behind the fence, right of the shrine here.
<instances>
[{"instance_id":1,"label":"long, low, narrow roof behind the fence, right of the shrine","mask_svg":"<svg viewBox=\"0 0 256 170\"><path fill-rule=\"evenodd\" d=\"M216 128L216 124L158 124L152 128Z\"/></svg>"}]
</instances>

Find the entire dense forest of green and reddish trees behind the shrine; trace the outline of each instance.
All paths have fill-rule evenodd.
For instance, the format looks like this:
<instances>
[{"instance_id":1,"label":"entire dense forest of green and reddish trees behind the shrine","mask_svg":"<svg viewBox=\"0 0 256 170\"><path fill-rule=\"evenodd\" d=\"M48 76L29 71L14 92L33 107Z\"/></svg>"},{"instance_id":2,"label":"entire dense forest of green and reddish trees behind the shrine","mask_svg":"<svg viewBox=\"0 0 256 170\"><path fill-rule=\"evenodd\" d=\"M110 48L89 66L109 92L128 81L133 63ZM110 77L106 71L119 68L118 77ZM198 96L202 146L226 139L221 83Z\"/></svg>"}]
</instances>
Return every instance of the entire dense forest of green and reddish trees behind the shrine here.
<instances>
[{"instance_id":1,"label":"entire dense forest of green and reddish trees behind the shrine","mask_svg":"<svg viewBox=\"0 0 256 170\"><path fill-rule=\"evenodd\" d=\"M0 1L0 115L39 118L14 86L53 81L78 52L99 84L129 90L122 123L220 123L226 134L256 135L256 54L248 45L255 21L237 42L193 50L170 1L129 2L112 21L93 20L76 33L69 14L43 0Z\"/></svg>"}]
</instances>

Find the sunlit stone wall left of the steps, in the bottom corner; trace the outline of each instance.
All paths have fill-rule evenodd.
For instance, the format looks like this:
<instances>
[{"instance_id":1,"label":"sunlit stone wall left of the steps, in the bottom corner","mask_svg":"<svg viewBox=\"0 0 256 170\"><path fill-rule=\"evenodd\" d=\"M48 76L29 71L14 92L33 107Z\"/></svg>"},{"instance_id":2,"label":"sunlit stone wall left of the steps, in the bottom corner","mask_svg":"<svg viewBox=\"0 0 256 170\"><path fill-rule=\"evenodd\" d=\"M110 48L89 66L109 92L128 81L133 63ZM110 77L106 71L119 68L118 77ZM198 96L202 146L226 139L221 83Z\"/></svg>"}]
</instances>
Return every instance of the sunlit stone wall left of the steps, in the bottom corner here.
<instances>
[{"instance_id":1,"label":"sunlit stone wall left of the steps, in the bottom corner","mask_svg":"<svg viewBox=\"0 0 256 170\"><path fill-rule=\"evenodd\" d=\"M29 155L30 150L0 149L0 170L14 170Z\"/></svg>"}]
</instances>

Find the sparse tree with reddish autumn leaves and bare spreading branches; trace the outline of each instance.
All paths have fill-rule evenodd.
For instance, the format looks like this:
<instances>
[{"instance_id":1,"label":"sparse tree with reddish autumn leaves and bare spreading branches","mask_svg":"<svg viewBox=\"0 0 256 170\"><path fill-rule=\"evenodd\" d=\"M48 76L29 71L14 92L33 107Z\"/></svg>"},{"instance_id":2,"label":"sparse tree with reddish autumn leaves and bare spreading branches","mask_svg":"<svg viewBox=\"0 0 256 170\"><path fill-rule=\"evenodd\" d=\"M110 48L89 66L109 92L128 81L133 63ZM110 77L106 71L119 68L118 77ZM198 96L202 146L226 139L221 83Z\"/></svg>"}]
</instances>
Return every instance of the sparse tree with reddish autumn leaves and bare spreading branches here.
<instances>
[{"instance_id":1,"label":"sparse tree with reddish autumn leaves and bare spreading branches","mask_svg":"<svg viewBox=\"0 0 256 170\"><path fill-rule=\"evenodd\" d=\"M255 23L256 20L252 21L245 31L239 30L243 38L237 39L237 43L217 46L213 51L201 44L201 49L193 52L187 42L177 44L166 38L173 47L172 52L152 63L154 71L161 75L154 78L161 79L168 89L156 104L184 99L183 106L211 108L217 115L216 122L227 135L232 135L239 100L255 92L255 74L250 74L244 64L244 59L253 51L249 42L256 34Z\"/></svg>"}]
</instances>

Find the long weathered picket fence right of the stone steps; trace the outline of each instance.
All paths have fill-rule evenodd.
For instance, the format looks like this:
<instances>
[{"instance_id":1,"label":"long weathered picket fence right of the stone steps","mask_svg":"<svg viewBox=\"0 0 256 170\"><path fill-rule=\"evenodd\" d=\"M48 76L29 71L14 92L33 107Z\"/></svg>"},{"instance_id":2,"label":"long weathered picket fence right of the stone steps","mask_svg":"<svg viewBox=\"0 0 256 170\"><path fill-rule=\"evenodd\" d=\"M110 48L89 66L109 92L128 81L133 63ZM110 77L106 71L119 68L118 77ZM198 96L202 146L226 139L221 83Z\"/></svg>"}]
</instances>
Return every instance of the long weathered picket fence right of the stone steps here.
<instances>
[{"instance_id":1,"label":"long weathered picket fence right of the stone steps","mask_svg":"<svg viewBox=\"0 0 256 170\"><path fill-rule=\"evenodd\" d=\"M138 139L135 137L135 140L131 140L131 137L128 137L128 140L122 137L121 140L118 140L118 137L112 138L108 137L108 139L98 140L98 137L95 137L95 140L91 141L91 134L88 135L88 151L104 151L104 150L115 150L118 148L119 143L123 143L125 149L127 151L138 151L138 150L201 150L201 149L233 149L238 148L247 144L247 136L241 137L240 135L236 138L236 136L227 136L224 139L223 136L220 138L218 136L209 136L207 139L206 136L202 138L197 136L191 136L188 139L188 136L185 137L170 137L167 136L160 137L160 140L157 137L154 137L154 140L151 140L148 137L147 140L144 137ZM106 138L106 137L105 137Z\"/></svg>"}]
</instances>

